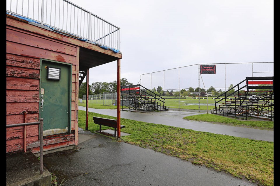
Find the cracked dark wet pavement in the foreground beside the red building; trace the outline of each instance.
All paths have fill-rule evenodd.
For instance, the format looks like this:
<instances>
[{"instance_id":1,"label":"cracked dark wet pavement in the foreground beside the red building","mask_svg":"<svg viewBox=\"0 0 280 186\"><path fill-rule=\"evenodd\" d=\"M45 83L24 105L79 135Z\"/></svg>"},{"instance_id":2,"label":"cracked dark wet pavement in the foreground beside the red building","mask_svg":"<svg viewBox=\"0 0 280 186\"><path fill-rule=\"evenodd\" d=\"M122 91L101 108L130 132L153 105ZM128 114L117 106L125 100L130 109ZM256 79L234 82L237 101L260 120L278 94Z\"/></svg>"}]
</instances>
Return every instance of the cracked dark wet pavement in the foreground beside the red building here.
<instances>
[{"instance_id":1,"label":"cracked dark wet pavement in the foreground beside the red building","mask_svg":"<svg viewBox=\"0 0 280 186\"><path fill-rule=\"evenodd\" d=\"M86 138L83 136L86 135ZM84 139L83 142L80 141ZM248 186L257 185L212 168L150 149L79 131L78 150L44 155L44 166L65 186Z\"/></svg>"}]
</instances>

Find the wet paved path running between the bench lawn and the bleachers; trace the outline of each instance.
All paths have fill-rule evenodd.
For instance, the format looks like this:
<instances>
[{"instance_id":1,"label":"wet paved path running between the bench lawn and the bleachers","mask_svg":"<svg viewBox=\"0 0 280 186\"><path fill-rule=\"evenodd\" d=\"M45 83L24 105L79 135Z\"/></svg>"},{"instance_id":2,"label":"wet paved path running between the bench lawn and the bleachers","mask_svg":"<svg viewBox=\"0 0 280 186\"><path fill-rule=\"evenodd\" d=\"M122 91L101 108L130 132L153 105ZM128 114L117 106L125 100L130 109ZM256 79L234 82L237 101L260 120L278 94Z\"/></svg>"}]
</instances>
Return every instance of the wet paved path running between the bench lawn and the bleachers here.
<instances>
[{"instance_id":1,"label":"wet paved path running between the bench lawn and the bleachers","mask_svg":"<svg viewBox=\"0 0 280 186\"><path fill-rule=\"evenodd\" d=\"M79 106L79 110L85 110L85 107ZM89 112L95 112L99 114L115 116L117 117L117 110L110 109L94 109L89 108ZM134 119L137 121L163 124L181 128L187 128L197 131L210 132L216 134L230 135L236 137L244 137L253 140L263 140L263 141L274 141L274 131L273 130L260 130L254 128L245 128L237 126L228 125L218 125L206 122L197 121L187 121L183 119L185 116L204 114L204 112L189 112L189 111L177 111L169 110L162 112L130 112L121 111L121 118Z\"/></svg>"}]
</instances>

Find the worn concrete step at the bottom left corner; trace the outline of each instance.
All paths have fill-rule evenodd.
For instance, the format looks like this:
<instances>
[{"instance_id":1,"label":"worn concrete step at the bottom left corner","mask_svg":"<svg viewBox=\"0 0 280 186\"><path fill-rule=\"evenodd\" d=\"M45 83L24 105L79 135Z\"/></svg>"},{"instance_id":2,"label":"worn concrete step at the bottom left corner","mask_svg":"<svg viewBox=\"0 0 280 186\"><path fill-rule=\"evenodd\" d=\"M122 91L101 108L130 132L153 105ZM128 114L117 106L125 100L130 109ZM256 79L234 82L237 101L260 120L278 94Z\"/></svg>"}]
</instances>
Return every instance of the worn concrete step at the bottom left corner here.
<instances>
[{"instance_id":1,"label":"worn concrete step at the bottom left corner","mask_svg":"<svg viewBox=\"0 0 280 186\"><path fill-rule=\"evenodd\" d=\"M50 186L51 174L43 167L40 175L40 161L31 153L6 154L7 186Z\"/></svg>"}]
</instances>

